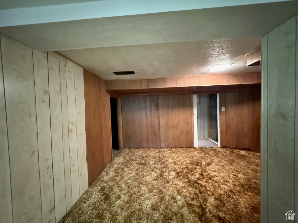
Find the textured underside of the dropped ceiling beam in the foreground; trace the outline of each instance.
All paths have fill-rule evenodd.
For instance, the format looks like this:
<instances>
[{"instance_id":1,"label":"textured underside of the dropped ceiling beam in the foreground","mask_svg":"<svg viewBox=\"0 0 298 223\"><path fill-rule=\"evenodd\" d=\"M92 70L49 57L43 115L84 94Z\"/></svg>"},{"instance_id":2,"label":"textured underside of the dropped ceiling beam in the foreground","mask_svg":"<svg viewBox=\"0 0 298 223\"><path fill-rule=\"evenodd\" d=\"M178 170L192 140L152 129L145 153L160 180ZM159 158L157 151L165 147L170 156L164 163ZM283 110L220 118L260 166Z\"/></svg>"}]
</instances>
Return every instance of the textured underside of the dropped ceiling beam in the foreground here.
<instances>
[{"instance_id":1,"label":"textured underside of the dropped ceiling beam in the foreground","mask_svg":"<svg viewBox=\"0 0 298 223\"><path fill-rule=\"evenodd\" d=\"M263 36L298 13L298 1L0 27L39 51Z\"/></svg>"}]
</instances>

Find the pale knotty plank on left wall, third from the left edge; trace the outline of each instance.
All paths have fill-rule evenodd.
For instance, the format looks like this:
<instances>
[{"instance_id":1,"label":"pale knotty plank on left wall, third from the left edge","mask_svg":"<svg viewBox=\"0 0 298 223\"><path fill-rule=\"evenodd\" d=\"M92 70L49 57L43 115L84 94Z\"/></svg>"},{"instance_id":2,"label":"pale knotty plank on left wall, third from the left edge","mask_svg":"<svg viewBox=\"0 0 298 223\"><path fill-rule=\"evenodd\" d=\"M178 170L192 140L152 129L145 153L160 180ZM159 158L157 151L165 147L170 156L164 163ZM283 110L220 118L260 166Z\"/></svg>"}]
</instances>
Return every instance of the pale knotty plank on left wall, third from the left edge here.
<instances>
[{"instance_id":1,"label":"pale knotty plank on left wall, third from the left edge","mask_svg":"<svg viewBox=\"0 0 298 223\"><path fill-rule=\"evenodd\" d=\"M42 221L55 222L48 56L46 52L39 52L36 50L32 50L32 54L35 81Z\"/></svg>"}]
</instances>

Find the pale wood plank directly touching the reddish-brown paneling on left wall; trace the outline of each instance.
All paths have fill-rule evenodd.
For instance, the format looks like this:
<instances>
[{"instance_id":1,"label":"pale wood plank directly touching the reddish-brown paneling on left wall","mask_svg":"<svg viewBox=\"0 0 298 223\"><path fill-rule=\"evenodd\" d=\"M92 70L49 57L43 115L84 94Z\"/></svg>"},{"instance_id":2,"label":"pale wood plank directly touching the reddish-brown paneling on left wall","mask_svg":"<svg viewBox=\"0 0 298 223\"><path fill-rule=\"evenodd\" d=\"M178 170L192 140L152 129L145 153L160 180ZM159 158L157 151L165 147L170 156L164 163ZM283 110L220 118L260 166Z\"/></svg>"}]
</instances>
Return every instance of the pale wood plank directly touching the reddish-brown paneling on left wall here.
<instances>
[{"instance_id":1,"label":"pale wood plank directly touching the reddish-brown paneling on left wall","mask_svg":"<svg viewBox=\"0 0 298 223\"><path fill-rule=\"evenodd\" d=\"M88 188L88 171L86 159L86 131L85 131L85 99L83 68L74 65L75 72L75 103L77 117L77 154L79 165L80 196Z\"/></svg>"}]
</instances>

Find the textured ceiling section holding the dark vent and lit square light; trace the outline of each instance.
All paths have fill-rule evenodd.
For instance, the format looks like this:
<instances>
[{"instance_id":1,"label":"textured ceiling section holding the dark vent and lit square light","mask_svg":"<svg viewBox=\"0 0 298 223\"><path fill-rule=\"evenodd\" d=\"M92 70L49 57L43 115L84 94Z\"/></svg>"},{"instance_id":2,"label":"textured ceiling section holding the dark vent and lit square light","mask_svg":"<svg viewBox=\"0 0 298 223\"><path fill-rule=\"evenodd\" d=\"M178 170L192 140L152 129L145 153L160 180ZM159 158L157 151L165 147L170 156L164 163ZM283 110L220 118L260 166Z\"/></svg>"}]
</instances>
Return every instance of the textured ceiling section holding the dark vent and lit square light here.
<instances>
[{"instance_id":1,"label":"textured ceiling section holding the dark vent and lit square light","mask_svg":"<svg viewBox=\"0 0 298 223\"><path fill-rule=\"evenodd\" d=\"M257 72L243 56L261 43L260 37L217 39L180 43L115 46L59 51L103 79L158 78L211 73ZM214 64L233 63L224 72L210 72ZM116 76L113 71L134 70Z\"/></svg>"}]
</instances>

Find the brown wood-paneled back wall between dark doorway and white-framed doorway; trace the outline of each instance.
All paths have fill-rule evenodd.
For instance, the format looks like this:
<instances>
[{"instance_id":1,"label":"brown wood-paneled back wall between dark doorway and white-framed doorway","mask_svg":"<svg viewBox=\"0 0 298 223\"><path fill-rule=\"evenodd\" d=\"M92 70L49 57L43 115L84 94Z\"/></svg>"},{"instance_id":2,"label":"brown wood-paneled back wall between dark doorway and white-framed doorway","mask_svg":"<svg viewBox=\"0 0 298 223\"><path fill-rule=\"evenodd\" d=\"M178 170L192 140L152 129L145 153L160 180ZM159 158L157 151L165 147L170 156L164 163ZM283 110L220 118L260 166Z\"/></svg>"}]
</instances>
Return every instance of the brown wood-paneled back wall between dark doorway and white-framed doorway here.
<instances>
[{"instance_id":1,"label":"brown wood-paneled back wall between dark doorway and white-framed doorway","mask_svg":"<svg viewBox=\"0 0 298 223\"><path fill-rule=\"evenodd\" d=\"M190 94L121 96L123 147L193 147Z\"/></svg>"}]
</instances>

